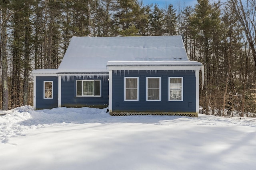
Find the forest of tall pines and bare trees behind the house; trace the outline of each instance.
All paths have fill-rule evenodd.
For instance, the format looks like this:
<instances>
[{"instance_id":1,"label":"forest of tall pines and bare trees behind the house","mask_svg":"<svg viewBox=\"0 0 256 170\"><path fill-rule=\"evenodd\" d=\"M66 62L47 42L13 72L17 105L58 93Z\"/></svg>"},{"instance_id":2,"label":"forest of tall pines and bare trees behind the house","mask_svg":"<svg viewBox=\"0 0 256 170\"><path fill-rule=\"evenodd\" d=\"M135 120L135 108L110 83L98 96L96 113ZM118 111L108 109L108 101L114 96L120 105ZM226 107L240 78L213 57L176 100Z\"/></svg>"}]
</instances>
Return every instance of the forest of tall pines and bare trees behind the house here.
<instances>
[{"instance_id":1,"label":"forest of tall pines and bare trees behind the house","mask_svg":"<svg viewBox=\"0 0 256 170\"><path fill-rule=\"evenodd\" d=\"M33 105L31 71L58 68L72 36L184 34L189 59L204 64L202 109L255 113L255 9L256 0L0 0L0 109Z\"/></svg>"}]
</instances>

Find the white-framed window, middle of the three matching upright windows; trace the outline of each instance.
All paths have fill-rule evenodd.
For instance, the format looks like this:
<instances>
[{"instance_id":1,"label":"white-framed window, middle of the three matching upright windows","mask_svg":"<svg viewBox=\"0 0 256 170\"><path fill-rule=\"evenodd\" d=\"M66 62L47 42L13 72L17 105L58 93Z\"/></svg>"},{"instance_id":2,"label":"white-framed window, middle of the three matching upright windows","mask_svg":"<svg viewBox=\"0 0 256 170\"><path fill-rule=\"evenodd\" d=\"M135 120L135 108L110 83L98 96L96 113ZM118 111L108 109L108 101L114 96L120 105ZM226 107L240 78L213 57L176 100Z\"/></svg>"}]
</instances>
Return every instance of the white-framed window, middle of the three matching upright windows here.
<instances>
[{"instance_id":1,"label":"white-framed window, middle of the three matching upright windows","mask_svg":"<svg viewBox=\"0 0 256 170\"><path fill-rule=\"evenodd\" d=\"M161 78L160 77L147 77L147 101L160 101L161 100Z\"/></svg>"}]
</instances>

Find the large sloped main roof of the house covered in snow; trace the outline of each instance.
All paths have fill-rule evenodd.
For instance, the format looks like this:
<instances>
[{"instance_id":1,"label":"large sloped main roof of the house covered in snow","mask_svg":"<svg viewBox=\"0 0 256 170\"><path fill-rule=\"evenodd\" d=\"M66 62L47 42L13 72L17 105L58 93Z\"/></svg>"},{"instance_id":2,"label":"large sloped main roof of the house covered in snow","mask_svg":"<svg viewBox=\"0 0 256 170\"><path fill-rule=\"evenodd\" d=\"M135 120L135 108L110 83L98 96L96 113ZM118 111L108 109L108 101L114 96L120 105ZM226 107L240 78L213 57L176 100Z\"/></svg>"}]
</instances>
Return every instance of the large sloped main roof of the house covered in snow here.
<instances>
[{"instance_id":1,"label":"large sloped main roof of the house covered in snow","mask_svg":"<svg viewBox=\"0 0 256 170\"><path fill-rule=\"evenodd\" d=\"M108 61L188 61L180 35L72 37L58 73L108 72Z\"/></svg>"}]
</instances>

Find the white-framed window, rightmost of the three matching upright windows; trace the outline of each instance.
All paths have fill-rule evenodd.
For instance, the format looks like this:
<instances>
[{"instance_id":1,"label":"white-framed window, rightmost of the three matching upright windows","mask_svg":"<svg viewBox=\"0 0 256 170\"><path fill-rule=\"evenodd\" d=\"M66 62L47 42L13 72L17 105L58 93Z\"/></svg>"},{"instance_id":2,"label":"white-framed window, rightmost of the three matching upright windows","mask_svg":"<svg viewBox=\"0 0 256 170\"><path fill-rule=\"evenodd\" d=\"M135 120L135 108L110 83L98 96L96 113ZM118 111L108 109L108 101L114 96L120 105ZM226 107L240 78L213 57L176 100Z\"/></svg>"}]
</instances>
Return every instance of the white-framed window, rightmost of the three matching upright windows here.
<instances>
[{"instance_id":1,"label":"white-framed window, rightmost of the three matching upright windows","mask_svg":"<svg viewBox=\"0 0 256 170\"><path fill-rule=\"evenodd\" d=\"M169 77L169 101L183 101L183 77Z\"/></svg>"}]
</instances>

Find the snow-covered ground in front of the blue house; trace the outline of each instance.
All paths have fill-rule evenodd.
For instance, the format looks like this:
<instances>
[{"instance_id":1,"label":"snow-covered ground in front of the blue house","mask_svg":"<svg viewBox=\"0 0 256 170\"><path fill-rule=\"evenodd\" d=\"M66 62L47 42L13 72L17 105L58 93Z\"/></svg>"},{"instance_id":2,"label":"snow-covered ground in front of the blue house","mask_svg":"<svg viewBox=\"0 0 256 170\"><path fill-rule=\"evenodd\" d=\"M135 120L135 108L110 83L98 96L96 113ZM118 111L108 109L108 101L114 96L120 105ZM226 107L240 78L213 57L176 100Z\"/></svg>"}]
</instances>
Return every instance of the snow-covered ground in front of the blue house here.
<instances>
[{"instance_id":1,"label":"snow-covered ground in front of the blue house","mask_svg":"<svg viewBox=\"0 0 256 170\"><path fill-rule=\"evenodd\" d=\"M1 170L254 170L256 118L112 117L17 107L0 117Z\"/></svg>"}]
</instances>

